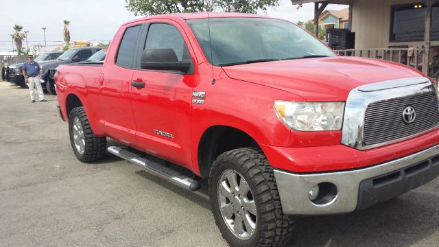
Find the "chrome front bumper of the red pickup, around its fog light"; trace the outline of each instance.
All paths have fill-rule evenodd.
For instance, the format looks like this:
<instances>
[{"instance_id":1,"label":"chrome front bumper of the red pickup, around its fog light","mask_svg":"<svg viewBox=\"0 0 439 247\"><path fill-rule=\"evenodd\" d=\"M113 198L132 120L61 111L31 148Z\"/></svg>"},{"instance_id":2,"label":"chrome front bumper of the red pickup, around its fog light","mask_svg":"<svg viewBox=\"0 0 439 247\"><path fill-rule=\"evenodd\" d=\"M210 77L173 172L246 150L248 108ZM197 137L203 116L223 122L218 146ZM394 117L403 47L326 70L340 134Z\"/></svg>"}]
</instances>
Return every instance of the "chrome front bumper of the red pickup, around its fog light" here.
<instances>
[{"instance_id":1,"label":"chrome front bumper of the red pickup, around its fog light","mask_svg":"<svg viewBox=\"0 0 439 247\"><path fill-rule=\"evenodd\" d=\"M274 169L283 212L287 215L349 213L400 196L439 175L439 145L366 167L343 172L294 174ZM337 187L335 198L315 204L308 192L319 183Z\"/></svg>"}]
</instances>

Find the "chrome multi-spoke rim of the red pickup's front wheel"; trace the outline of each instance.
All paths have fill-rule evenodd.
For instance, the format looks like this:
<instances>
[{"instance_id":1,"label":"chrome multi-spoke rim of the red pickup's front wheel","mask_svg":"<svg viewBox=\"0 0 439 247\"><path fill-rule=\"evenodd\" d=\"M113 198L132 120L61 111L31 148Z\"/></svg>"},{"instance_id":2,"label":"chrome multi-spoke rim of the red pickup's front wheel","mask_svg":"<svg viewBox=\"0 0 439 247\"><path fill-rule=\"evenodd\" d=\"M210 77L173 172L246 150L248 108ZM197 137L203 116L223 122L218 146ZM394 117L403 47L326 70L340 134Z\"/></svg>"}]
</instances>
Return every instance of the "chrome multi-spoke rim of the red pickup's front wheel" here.
<instances>
[{"instance_id":1,"label":"chrome multi-spoke rim of the red pickup's front wheel","mask_svg":"<svg viewBox=\"0 0 439 247\"><path fill-rule=\"evenodd\" d=\"M233 169L225 170L217 185L219 211L229 230L249 239L257 226L257 209L246 179Z\"/></svg>"}]
</instances>

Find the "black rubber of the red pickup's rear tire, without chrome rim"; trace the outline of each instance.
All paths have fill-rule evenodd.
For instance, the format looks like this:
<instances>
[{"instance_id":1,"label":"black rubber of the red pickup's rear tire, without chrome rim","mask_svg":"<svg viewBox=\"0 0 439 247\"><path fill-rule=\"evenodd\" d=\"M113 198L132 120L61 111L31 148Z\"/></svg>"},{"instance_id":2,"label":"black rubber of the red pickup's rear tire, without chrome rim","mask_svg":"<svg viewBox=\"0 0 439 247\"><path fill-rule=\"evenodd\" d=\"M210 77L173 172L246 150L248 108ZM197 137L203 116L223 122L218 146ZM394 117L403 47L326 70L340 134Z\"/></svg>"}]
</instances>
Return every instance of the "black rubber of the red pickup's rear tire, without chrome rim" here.
<instances>
[{"instance_id":1,"label":"black rubber of the red pickup's rear tire, without chrome rim","mask_svg":"<svg viewBox=\"0 0 439 247\"><path fill-rule=\"evenodd\" d=\"M75 117L78 117L82 124L82 129L84 130L85 138L85 148L84 154L78 159L84 163L90 163L93 161L99 161L104 158L107 148L106 137L96 137L91 130L90 122L88 121L87 115L85 113L84 107L76 107L71 110L69 114L69 121L73 121ZM70 124L69 124L70 128ZM71 132L71 130L69 130ZM75 150L75 145L71 142L73 150ZM76 150L75 150L76 151Z\"/></svg>"}]
</instances>

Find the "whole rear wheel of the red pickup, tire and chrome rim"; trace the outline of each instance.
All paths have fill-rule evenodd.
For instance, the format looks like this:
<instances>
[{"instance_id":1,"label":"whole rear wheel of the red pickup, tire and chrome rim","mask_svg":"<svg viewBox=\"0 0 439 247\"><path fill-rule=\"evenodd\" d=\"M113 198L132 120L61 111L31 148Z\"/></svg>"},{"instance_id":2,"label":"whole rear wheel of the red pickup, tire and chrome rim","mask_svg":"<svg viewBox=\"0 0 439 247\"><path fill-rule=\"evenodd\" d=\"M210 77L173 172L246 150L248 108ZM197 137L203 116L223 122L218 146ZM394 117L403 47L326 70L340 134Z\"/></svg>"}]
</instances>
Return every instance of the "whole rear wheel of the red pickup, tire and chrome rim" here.
<instances>
[{"instance_id":1,"label":"whole rear wheel of the red pickup, tire and chrome rim","mask_svg":"<svg viewBox=\"0 0 439 247\"><path fill-rule=\"evenodd\" d=\"M84 163L104 158L106 137L96 137L91 130L84 107L73 108L69 114L70 143L76 158Z\"/></svg>"}]
</instances>

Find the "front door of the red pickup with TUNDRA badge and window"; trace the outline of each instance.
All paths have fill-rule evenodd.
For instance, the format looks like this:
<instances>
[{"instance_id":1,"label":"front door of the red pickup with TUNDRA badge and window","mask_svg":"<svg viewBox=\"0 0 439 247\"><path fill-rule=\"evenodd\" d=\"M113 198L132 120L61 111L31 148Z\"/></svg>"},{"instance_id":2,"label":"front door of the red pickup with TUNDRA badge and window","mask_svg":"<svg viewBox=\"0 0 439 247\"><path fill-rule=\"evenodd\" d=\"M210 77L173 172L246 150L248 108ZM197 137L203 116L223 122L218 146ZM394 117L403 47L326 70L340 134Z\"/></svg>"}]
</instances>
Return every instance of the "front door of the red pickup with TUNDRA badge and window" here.
<instances>
[{"instance_id":1,"label":"front door of the red pickup with TUNDRA badge and window","mask_svg":"<svg viewBox=\"0 0 439 247\"><path fill-rule=\"evenodd\" d=\"M145 87L132 86L132 110L137 127L137 143L143 151L168 161L191 165L191 98L195 78L187 38L177 23L147 23L146 40L139 42L137 69L133 80ZM141 57L148 49L167 49L166 61L191 60L189 73L154 71L141 68ZM169 60L169 61L168 61ZM157 62L157 61L149 61Z\"/></svg>"}]
</instances>

